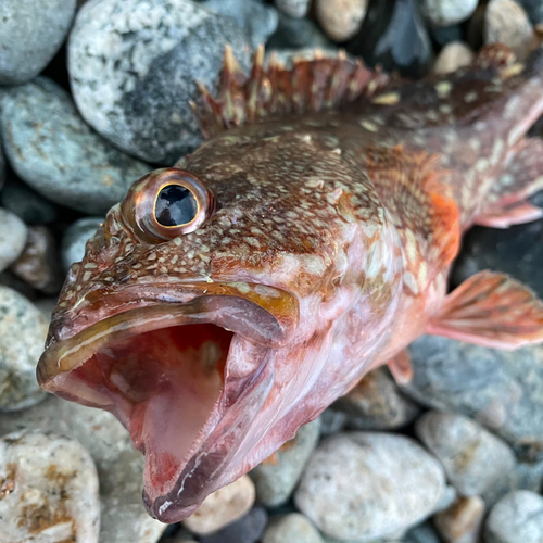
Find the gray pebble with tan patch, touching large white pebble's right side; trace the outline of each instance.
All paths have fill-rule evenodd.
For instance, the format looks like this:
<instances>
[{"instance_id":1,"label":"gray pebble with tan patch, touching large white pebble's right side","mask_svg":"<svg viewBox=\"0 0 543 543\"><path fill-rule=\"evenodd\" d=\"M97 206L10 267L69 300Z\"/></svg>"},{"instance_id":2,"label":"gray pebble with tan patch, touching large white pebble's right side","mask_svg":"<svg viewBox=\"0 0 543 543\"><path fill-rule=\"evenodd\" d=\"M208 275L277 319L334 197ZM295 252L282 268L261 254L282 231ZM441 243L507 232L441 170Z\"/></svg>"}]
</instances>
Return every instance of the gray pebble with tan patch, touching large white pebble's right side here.
<instances>
[{"instance_id":1,"label":"gray pebble with tan patch, touching large white pebble's right side","mask_svg":"<svg viewBox=\"0 0 543 543\"><path fill-rule=\"evenodd\" d=\"M430 411L417 420L415 428L463 496L481 495L502 485L515 469L509 446L468 417Z\"/></svg>"}]
</instances>

